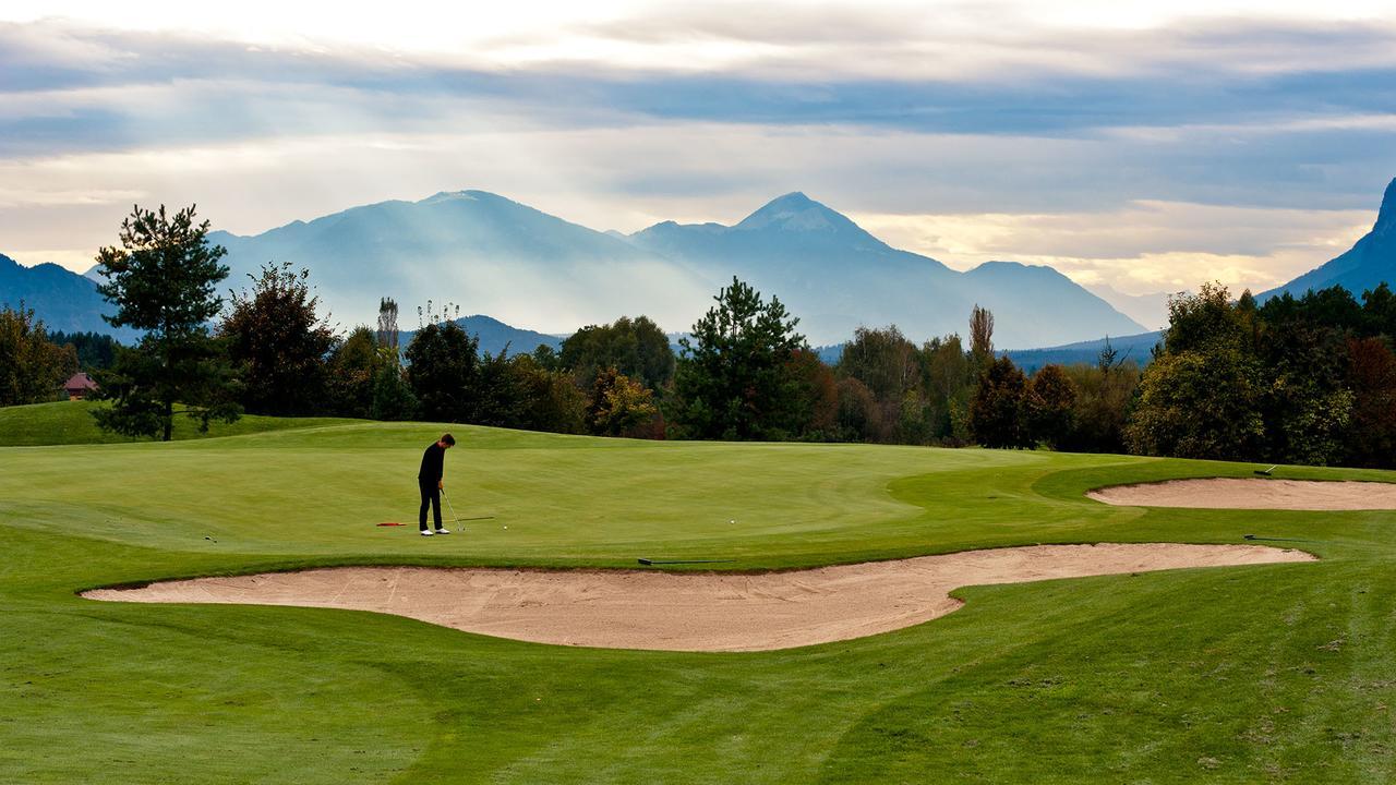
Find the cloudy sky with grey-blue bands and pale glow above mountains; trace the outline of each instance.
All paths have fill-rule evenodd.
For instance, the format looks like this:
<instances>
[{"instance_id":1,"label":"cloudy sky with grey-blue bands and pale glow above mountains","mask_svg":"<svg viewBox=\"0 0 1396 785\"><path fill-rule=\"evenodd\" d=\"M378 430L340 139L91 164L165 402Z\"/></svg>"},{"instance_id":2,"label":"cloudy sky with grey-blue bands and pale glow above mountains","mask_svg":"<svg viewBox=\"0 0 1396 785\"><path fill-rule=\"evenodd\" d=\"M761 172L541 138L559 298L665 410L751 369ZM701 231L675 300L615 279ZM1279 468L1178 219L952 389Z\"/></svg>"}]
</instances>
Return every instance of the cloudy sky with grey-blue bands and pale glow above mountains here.
<instances>
[{"instance_id":1,"label":"cloudy sky with grey-blue bands and pale glow above mountains","mask_svg":"<svg viewBox=\"0 0 1396 785\"><path fill-rule=\"evenodd\" d=\"M1396 3L0 0L0 253L480 189L593 229L794 190L959 270L1270 288L1396 177Z\"/></svg>"}]
</instances>

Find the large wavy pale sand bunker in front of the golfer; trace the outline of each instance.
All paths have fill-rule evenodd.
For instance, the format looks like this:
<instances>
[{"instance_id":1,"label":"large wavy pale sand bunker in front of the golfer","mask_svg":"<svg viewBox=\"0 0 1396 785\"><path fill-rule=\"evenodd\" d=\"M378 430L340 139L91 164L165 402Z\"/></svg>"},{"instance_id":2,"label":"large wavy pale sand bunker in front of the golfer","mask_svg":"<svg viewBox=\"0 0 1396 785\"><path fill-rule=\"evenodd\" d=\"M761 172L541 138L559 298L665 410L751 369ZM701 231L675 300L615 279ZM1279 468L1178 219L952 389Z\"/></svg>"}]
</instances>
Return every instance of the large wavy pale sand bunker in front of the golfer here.
<instances>
[{"instance_id":1,"label":"large wavy pale sand bunker in front of the golfer","mask_svg":"<svg viewBox=\"0 0 1396 785\"><path fill-rule=\"evenodd\" d=\"M563 645L769 651L944 616L962 605L948 594L958 587L1312 559L1252 545L1037 545L761 574L336 567L166 581L84 596L376 610Z\"/></svg>"}]
</instances>

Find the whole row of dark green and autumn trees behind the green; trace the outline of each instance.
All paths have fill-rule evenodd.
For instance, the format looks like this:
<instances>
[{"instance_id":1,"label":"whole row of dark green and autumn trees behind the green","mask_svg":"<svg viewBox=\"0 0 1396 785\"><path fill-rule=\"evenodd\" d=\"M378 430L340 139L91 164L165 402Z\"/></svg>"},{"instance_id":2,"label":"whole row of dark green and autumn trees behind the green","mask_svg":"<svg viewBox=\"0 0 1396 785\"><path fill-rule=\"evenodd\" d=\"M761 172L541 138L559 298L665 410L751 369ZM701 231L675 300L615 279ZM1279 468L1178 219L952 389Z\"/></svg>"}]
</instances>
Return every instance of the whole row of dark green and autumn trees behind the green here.
<instances>
[{"instance_id":1,"label":"whole row of dark green and autumn trees behind the green","mask_svg":"<svg viewBox=\"0 0 1396 785\"><path fill-rule=\"evenodd\" d=\"M1342 288L1231 300L1220 285L1170 302L1152 362L1108 342L1089 365L1025 374L993 344L976 306L967 341L920 345L895 325L859 328L819 360L799 318L740 279L671 349L652 320L581 328L554 351L482 352L451 318L419 307L399 346L398 306L341 335L309 272L269 263L229 299L223 249L194 208L135 208L120 247L98 254L116 306L145 331L134 346L49 341L32 311L0 311L0 404L50 394L80 355L112 404L102 427L169 437L179 412L207 425L242 412L427 419L649 439L870 441L1053 448L1298 464L1392 465L1396 296ZM225 307L226 306L226 307ZM455 309L459 316L459 309ZM967 345L966 345L967 344Z\"/></svg>"}]
</instances>

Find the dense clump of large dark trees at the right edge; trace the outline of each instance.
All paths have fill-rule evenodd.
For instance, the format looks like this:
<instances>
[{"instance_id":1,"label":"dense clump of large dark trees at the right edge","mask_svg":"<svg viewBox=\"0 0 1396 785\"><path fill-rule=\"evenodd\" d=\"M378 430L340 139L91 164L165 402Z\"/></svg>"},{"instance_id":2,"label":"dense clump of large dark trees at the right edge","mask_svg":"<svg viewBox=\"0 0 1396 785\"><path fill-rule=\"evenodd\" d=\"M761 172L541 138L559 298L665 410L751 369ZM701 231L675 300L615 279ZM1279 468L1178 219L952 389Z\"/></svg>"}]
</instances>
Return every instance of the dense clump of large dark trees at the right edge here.
<instances>
[{"instance_id":1,"label":"dense clump of large dark trees at the right edge","mask_svg":"<svg viewBox=\"0 0 1396 785\"><path fill-rule=\"evenodd\" d=\"M1256 307L1220 285L1171 303L1143 374L1131 450L1286 464L1392 465L1388 369L1396 299L1385 285L1289 293Z\"/></svg>"}]
</instances>

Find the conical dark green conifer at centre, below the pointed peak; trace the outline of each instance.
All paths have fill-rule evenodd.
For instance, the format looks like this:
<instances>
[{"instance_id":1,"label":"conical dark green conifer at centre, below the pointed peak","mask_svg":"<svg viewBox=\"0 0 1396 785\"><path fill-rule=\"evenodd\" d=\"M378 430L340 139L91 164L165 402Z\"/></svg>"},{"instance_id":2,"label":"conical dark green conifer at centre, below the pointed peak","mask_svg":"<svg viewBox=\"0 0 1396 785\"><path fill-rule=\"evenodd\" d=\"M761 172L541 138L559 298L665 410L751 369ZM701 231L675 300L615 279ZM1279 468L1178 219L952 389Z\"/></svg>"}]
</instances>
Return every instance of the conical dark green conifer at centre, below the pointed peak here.
<instances>
[{"instance_id":1,"label":"conical dark green conifer at centre, below the pointed peak","mask_svg":"<svg viewBox=\"0 0 1396 785\"><path fill-rule=\"evenodd\" d=\"M766 303L747 284L732 279L718 305L681 338L684 355L674 374L671 422L690 439L787 439L807 415L797 409L799 380L790 359L804 346L778 298Z\"/></svg>"}]
</instances>

